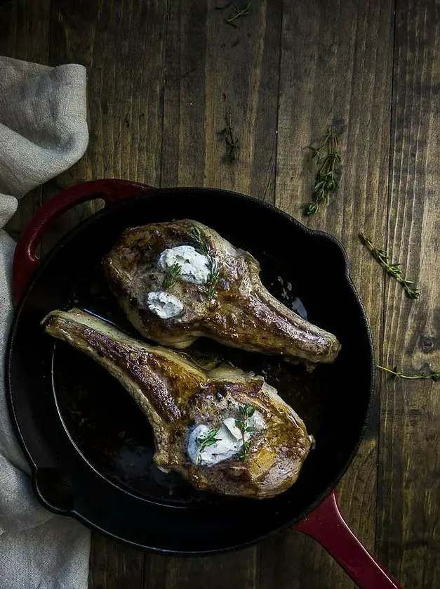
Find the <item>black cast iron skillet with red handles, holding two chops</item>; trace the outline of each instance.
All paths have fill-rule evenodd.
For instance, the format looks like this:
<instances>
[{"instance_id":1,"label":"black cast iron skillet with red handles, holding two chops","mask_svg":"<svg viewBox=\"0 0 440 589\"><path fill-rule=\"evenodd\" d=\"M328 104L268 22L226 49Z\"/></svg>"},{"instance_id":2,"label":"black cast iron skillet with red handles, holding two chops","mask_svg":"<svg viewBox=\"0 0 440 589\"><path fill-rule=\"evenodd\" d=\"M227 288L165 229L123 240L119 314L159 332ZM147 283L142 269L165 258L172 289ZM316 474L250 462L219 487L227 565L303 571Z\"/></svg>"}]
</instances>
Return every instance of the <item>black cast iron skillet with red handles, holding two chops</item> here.
<instances>
[{"instance_id":1,"label":"black cast iron skillet with red handles, holding two chops","mask_svg":"<svg viewBox=\"0 0 440 589\"><path fill-rule=\"evenodd\" d=\"M94 198L107 207L40 264L36 245L50 221ZM152 431L131 397L91 358L55 343L39 326L48 311L75 304L134 333L109 293L100 261L124 228L182 218L201 221L252 252L269 290L342 343L336 363L312 374L208 340L191 352L265 375L316 437L298 482L273 499L222 498L159 472L152 463ZM361 586L398 586L349 531L332 491L364 433L374 376L365 312L334 238L225 190L93 181L65 190L39 210L18 243L13 280L20 303L8 345L9 401L34 491L45 507L112 538L175 554L241 548L295 524Z\"/></svg>"}]
</instances>

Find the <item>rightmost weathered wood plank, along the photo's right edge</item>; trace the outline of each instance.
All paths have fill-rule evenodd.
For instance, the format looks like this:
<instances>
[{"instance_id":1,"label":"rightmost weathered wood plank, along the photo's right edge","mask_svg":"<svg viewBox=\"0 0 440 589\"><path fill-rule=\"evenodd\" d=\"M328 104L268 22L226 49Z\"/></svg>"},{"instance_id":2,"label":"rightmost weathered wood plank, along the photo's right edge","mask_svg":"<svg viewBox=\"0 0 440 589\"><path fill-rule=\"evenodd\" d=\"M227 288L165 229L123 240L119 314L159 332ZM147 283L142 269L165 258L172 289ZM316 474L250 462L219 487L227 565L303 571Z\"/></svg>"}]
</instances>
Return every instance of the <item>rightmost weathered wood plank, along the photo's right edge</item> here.
<instances>
[{"instance_id":1,"label":"rightmost weathered wood plank, along the photo's right edge","mask_svg":"<svg viewBox=\"0 0 440 589\"><path fill-rule=\"evenodd\" d=\"M396 3L387 247L420 300L387 281L385 363L440 367L439 3ZM382 378L378 550L405 587L440 586L440 384Z\"/></svg>"}]
</instances>

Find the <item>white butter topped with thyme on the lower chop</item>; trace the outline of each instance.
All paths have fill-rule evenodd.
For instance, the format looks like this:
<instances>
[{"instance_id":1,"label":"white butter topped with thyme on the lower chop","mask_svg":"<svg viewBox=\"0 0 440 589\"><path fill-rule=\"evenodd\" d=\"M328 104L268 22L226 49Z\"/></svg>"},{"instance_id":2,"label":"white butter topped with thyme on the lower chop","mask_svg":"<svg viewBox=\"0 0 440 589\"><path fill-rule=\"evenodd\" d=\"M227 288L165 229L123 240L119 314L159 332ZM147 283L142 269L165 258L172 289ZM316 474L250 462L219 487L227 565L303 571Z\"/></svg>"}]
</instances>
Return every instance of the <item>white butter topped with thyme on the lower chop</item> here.
<instances>
[{"instance_id":1,"label":"white butter topped with thyme on the lower chop","mask_svg":"<svg viewBox=\"0 0 440 589\"><path fill-rule=\"evenodd\" d=\"M256 419L255 419L255 416ZM253 425L255 429L265 429L266 424L262 415L255 411L252 418L248 420L248 425ZM199 444L199 439L203 440L208 435L211 428L207 425L196 425L189 434L187 453L189 460L199 466L213 466L223 460L228 460L239 453L243 446L243 436L240 429L236 426L235 418L226 418L223 420L220 429L215 434L217 441L211 446ZM245 432L244 439L251 439L251 432Z\"/></svg>"}]
</instances>

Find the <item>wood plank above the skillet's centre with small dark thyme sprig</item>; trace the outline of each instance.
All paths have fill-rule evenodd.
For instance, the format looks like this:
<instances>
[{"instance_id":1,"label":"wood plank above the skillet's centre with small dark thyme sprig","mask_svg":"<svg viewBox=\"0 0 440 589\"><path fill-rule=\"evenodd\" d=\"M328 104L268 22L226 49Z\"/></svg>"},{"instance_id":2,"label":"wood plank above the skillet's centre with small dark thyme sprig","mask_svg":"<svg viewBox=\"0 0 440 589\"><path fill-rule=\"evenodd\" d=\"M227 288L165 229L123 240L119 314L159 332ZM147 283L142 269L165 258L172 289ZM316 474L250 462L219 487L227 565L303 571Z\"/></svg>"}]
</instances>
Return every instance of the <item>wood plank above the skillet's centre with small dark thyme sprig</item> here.
<instances>
[{"instance_id":1,"label":"wood plank above the skillet's centre with small dark thyme sprig","mask_svg":"<svg viewBox=\"0 0 440 589\"><path fill-rule=\"evenodd\" d=\"M216 186L274 201L281 6L254 3L234 29L228 9L171 4L166 30L161 186ZM225 116L239 158L225 161ZM255 548L212 558L146 555L145 588L254 588Z\"/></svg>"}]
</instances>

